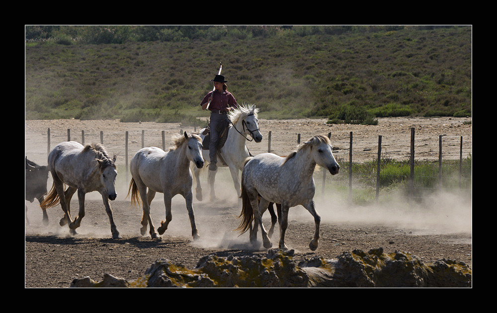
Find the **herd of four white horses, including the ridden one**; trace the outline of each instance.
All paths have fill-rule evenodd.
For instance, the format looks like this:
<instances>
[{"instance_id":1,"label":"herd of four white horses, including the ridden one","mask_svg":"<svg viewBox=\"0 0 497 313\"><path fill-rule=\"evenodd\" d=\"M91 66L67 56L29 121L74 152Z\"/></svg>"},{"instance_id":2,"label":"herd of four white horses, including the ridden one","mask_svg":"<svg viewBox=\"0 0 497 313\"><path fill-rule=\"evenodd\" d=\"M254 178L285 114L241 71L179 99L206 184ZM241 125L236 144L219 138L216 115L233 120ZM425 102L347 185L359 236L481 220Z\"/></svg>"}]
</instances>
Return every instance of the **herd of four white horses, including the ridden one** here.
<instances>
[{"instance_id":1,"label":"herd of four white horses, including the ridden one","mask_svg":"<svg viewBox=\"0 0 497 313\"><path fill-rule=\"evenodd\" d=\"M288 225L290 207L302 205L314 217L316 230L309 247L316 250L319 244L320 216L314 204L315 184L313 173L320 165L331 173L338 174L339 165L333 157L330 139L317 135L302 143L295 152L286 157L273 153L252 156L246 141L260 142L258 109L253 105L242 105L230 112L230 130L223 147L219 148L222 163L229 167L235 191L242 199L242 212L239 230L250 231L250 242L256 242L257 229L260 227L263 246L271 248L272 244L262 224L262 214L270 203L277 203L278 223L280 226L279 248L286 248L285 231ZM173 136L173 146L164 151L156 147L142 148L130 162L131 182L128 196L132 203L142 203L142 236L149 229L152 238L160 238L172 220L171 199L176 194L185 198L190 218L192 237L198 238L193 213L192 185L196 181L196 198L202 200L200 186L200 169L209 162L209 151L202 149L204 129L198 133L177 134ZM98 191L103 198L105 210L109 216L112 238L122 238L112 216L109 200L116 198L115 180L117 167L116 156L109 156L102 145L83 146L75 141L58 144L48 156L48 167L52 174L53 186L40 204L43 210L60 203L64 217L60 225L69 225L71 234L81 225L84 217L84 196L91 191ZM193 175L192 175L193 171ZM242 179L239 180L239 172ZM208 171L210 198L215 198L214 181L216 171ZM64 185L68 188L64 190ZM70 202L78 191L79 212L73 219ZM157 192L164 194L166 221L155 228L150 217L150 204ZM278 208L279 208L278 207ZM253 223L253 226L252 226Z\"/></svg>"}]
</instances>

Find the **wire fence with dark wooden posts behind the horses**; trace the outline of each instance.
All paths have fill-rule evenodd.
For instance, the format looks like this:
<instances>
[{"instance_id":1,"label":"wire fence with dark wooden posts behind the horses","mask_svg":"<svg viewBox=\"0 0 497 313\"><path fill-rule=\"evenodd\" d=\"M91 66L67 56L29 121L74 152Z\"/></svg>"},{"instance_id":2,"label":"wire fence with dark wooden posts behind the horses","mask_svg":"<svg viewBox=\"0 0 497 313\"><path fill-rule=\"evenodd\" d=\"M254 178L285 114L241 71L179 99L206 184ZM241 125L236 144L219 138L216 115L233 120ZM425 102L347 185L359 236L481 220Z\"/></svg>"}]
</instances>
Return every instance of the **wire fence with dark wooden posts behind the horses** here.
<instances>
[{"instance_id":1,"label":"wire fence with dark wooden posts behind the horses","mask_svg":"<svg viewBox=\"0 0 497 313\"><path fill-rule=\"evenodd\" d=\"M182 129L179 130L183 132ZM271 150L271 135L268 133L267 151ZM145 130L141 132L141 146L145 146ZM331 137L331 133L328 134ZM51 150L51 134L48 128L47 155ZM103 143L104 133L100 131L100 143ZM347 194L350 202L379 201L380 197L395 189L397 194L405 197L408 202L423 198L427 193L446 191L467 193L471 196L472 186L472 161L471 157L463 158L463 137L459 142L459 160L443 160L442 146L443 136L439 136L439 151L437 161L419 161L415 158L415 129L411 128L411 153L409 160L396 161L389 157L388 153L382 151L382 135L378 135L378 150L370 151L372 156L368 162L354 162L354 137L353 132L349 133L348 160L340 160L340 175L331 175L326 171L315 173L317 191L321 190L325 194L329 189L339 189ZM67 130L67 140L71 138L71 129ZM81 143L84 144L85 134L82 130ZM297 143L300 144L300 133L297 134ZM129 134L125 132L125 182L129 182ZM135 144L136 146L136 144ZM166 150L166 133L162 131L162 148ZM392 151L390 151L392 152ZM134 152L132 152L134 153ZM364 200L363 200L364 199Z\"/></svg>"}]
</instances>

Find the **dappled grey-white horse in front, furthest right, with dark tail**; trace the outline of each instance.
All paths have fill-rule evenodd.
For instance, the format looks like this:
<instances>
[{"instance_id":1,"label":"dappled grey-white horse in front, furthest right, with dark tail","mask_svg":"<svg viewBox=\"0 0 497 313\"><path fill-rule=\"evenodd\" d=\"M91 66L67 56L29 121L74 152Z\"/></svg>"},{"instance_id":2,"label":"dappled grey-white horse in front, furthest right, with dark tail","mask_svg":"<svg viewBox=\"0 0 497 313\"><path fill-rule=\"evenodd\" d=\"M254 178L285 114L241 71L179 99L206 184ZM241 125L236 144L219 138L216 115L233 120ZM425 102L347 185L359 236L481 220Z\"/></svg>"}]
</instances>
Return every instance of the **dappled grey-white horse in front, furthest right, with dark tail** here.
<instances>
[{"instance_id":1,"label":"dappled grey-white horse in front, furthest right, with dark tail","mask_svg":"<svg viewBox=\"0 0 497 313\"><path fill-rule=\"evenodd\" d=\"M279 248L286 248L288 210L300 204L314 216L316 231L309 248L318 248L321 217L316 212L313 200L316 164L327 168L331 175L337 174L340 168L333 157L330 139L326 136L314 136L286 158L262 153L248 160L242 171L242 222L239 229L245 233L254 222L251 242L256 241L257 226L260 226L264 248L271 248L272 244L262 225L262 214L269 202L281 203ZM257 195L260 195L259 203Z\"/></svg>"}]
</instances>

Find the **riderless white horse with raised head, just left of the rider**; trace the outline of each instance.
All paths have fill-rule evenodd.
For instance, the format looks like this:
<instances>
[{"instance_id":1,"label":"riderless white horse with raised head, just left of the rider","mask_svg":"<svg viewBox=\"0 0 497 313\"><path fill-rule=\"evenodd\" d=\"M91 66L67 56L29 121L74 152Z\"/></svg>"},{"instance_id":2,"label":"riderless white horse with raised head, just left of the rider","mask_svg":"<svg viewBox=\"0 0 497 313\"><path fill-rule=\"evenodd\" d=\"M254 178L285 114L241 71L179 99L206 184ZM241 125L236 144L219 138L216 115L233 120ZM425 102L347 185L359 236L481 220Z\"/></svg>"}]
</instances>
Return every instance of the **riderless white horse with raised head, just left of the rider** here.
<instances>
[{"instance_id":1,"label":"riderless white horse with raised head, just left of the rider","mask_svg":"<svg viewBox=\"0 0 497 313\"><path fill-rule=\"evenodd\" d=\"M204 166L201 152L202 141L199 136L195 134L188 136L186 132L184 136L174 136L173 141L174 146L168 152L157 147L148 147L139 150L133 156L130 162L132 179L128 195L131 192L132 203L139 203L140 200L143 203L142 227L140 228L142 236L146 234L148 224L151 237L159 238L150 217L150 203L156 192L164 193L166 222L161 221L161 227L157 229L162 235L172 220L171 199L174 195L181 194L186 201L192 236L196 239L199 236L192 207L192 175L189 164L191 161L197 168Z\"/></svg>"}]
</instances>

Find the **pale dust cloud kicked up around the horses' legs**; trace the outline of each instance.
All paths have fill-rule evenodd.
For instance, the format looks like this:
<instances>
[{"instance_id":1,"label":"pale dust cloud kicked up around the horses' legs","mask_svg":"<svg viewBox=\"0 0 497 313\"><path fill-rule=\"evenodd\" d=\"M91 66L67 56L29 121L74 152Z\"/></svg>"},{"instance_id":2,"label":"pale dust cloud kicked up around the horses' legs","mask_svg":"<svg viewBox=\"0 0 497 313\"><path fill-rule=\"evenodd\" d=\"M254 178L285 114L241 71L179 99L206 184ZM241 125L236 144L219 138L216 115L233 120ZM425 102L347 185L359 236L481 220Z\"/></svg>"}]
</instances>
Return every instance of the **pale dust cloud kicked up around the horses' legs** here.
<instances>
[{"instance_id":1,"label":"pale dust cloud kicked up around the horses' legs","mask_svg":"<svg viewBox=\"0 0 497 313\"><path fill-rule=\"evenodd\" d=\"M114 212L114 220L118 230L123 236L140 237L140 221L142 207L131 205L128 193L129 180L131 176L125 173L118 175L116 189L118 197L110 201ZM326 194L321 194L319 179L316 180L316 194L314 197L316 210L321 215L322 223L363 223L370 225L385 225L401 229L414 229L417 234L449 234L449 233L471 233L472 232L472 199L461 194L434 193L422 197L422 200L409 203L407 197L396 194L394 191L388 193L388 199L380 195L379 203L368 203L364 206L352 206L343 194L338 194L333 188L329 188ZM49 178L48 189L52 186ZM248 233L240 234L237 227L240 224L239 215L241 202L237 196L233 180L227 168L220 168L216 175L215 201L209 199L210 187L207 183L207 170L201 173L201 186L203 189L203 201L195 198L195 182L193 183L193 209L195 221L200 240L192 245L199 248L222 248L222 249L244 249L253 250L249 245ZM385 196L386 197L386 196ZM86 237L108 238L110 226L107 214L102 203L101 195L90 192L85 197L86 215L82 221L78 233ZM67 226L60 227L59 219L63 216L60 205L49 208L50 226L44 227L41 222L41 209L35 200L33 203L26 201L32 226L26 228L26 232L49 233L57 236L70 236ZM78 197L73 196L71 208L73 218L78 213ZM165 220L165 205L162 193L157 193L151 204L151 214L155 227ZM188 218L185 200L181 195L172 199L173 219L168 230L163 236L191 237L191 227ZM270 225L269 212L265 212L263 221L266 229ZM295 221L314 224L312 215L302 206L290 208L289 223ZM148 235L148 234L147 234ZM256 249L256 248L255 248Z\"/></svg>"}]
</instances>

